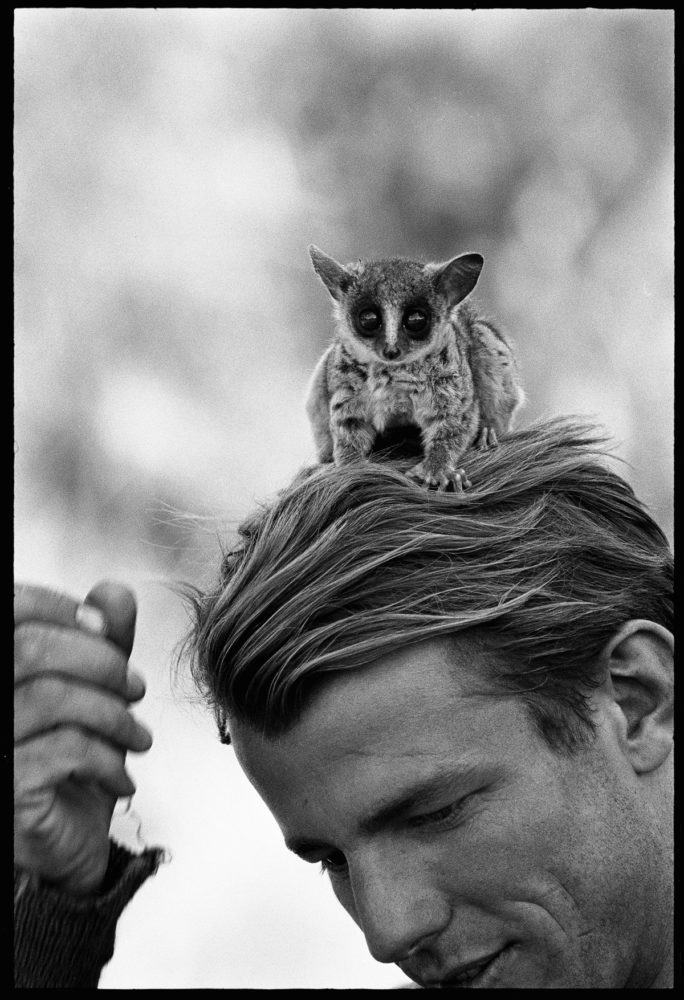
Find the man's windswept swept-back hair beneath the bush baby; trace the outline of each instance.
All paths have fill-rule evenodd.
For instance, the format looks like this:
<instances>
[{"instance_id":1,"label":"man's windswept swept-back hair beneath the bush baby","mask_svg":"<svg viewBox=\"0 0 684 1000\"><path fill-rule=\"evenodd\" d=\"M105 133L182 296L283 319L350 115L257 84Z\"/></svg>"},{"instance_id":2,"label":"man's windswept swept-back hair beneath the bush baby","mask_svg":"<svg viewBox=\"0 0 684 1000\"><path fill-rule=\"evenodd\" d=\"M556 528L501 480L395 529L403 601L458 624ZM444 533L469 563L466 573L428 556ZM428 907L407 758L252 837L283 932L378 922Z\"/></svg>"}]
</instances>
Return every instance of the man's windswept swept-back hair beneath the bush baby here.
<instances>
[{"instance_id":1,"label":"man's windswept swept-back hair beneath the bush baby","mask_svg":"<svg viewBox=\"0 0 684 1000\"><path fill-rule=\"evenodd\" d=\"M302 470L240 527L216 586L190 591L185 649L224 742L230 716L276 736L330 674L449 636L551 747L586 742L608 640L673 615L667 540L605 444L538 423L464 455L464 492L429 491L396 458Z\"/></svg>"}]
</instances>

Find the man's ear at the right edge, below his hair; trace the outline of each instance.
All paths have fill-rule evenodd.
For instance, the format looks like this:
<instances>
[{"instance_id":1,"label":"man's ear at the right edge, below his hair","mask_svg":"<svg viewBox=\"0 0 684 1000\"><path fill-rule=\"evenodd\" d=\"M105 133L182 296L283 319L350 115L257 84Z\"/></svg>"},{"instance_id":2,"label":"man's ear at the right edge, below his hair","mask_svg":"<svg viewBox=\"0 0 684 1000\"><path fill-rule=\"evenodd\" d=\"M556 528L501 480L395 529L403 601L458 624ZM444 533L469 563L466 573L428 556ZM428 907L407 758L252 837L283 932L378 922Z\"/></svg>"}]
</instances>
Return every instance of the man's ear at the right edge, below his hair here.
<instances>
[{"instance_id":1,"label":"man's ear at the right edge, below his hair","mask_svg":"<svg viewBox=\"0 0 684 1000\"><path fill-rule=\"evenodd\" d=\"M616 632L605 656L623 751L638 774L654 771L672 748L674 637L634 619Z\"/></svg>"}]
</instances>

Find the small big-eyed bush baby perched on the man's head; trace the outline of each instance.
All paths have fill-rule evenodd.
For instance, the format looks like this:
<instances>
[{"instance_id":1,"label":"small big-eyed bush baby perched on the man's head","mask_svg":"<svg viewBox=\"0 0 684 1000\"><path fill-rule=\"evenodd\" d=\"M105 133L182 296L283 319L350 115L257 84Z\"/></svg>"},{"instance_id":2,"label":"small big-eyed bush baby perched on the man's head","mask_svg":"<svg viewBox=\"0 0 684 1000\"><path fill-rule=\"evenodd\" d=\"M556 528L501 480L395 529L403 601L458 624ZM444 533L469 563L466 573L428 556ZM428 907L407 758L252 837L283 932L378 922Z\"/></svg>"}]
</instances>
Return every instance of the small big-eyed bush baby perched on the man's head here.
<instances>
[{"instance_id":1,"label":"small big-eyed bush baby perched on the man's head","mask_svg":"<svg viewBox=\"0 0 684 1000\"><path fill-rule=\"evenodd\" d=\"M342 265L309 253L336 320L306 403L318 460L362 460L378 435L417 427L423 459L407 474L440 490L468 486L464 451L494 447L524 399L510 339L468 298L482 257Z\"/></svg>"}]
</instances>

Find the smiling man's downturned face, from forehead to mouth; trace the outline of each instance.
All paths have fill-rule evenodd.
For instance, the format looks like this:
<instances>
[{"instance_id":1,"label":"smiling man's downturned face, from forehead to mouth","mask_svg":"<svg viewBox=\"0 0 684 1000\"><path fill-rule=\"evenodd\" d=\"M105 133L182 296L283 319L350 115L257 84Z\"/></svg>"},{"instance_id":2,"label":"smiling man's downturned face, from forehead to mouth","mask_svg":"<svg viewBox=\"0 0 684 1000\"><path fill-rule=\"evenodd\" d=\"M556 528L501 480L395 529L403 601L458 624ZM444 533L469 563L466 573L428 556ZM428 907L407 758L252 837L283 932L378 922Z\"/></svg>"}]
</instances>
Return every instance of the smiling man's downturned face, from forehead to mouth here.
<instances>
[{"instance_id":1,"label":"smiling man's downturned face, from forehead to mouth","mask_svg":"<svg viewBox=\"0 0 684 1000\"><path fill-rule=\"evenodd\" d=\"M430 641L334 676L284 736L233 723L238 759L372 955L421 985L651 986L656 820L610 699L589 747L555 753L475 660Z\"/></svg>"}]
</instances>

